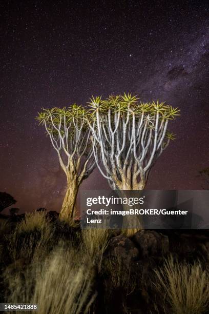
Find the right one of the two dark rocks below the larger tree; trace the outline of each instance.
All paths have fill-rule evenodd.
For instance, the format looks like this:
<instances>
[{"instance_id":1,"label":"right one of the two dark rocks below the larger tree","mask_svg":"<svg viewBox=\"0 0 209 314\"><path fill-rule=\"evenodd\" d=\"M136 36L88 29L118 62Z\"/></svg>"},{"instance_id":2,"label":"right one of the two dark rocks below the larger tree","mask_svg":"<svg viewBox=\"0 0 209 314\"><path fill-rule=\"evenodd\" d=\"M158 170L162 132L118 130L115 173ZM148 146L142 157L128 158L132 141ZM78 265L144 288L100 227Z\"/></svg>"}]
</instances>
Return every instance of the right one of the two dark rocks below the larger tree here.
<instances>
[{"instance_id":1,"label":"right one of the two dark rocks below the larger tree","mask_svg":"<svg viewBox=\"0 0 209 314\"><path fill-rule=\"evenodd\" d=\"M142 258L163 256L169 252L167 235L153 230L141 230L134 234L133 242L139 249Z\"/></svg>"}]
</instances>

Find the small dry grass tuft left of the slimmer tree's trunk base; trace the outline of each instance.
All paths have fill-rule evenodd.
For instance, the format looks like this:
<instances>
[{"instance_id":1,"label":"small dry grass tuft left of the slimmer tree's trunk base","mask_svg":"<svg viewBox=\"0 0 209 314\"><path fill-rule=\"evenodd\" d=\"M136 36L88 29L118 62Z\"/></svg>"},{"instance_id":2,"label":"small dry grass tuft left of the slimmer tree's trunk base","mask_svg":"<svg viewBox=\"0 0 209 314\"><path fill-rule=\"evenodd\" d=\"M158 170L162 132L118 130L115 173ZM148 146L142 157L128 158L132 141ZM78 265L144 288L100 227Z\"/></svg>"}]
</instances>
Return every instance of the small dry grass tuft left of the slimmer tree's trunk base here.
<instances>
[{"instance_id":1,"label":"small dry grass tuft left of the slimmer tree's trunk base","mask_svg":"<svg viewBox=\"0 0 209 314\"><path fill-rule=\"evenodd\" d=\"M19 232L31 232L34 230L47 229L49 219L46 218L45 211L34 211L25 214L25 219L17 224Z\"/></svg>"}]
</instances>

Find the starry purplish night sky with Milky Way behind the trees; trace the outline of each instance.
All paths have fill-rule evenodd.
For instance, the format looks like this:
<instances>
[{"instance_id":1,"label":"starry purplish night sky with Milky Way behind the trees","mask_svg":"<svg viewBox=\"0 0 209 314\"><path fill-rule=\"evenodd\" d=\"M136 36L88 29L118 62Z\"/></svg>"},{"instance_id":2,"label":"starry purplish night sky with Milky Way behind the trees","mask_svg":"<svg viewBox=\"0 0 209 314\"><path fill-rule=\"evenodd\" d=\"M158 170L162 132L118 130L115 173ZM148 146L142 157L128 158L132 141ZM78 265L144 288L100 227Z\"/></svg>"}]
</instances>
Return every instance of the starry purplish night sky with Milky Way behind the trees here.
<instances>
[{"instance_id":1,"label":"starry purplish night sky with Milky Way behind the trees","mask_svg":"<svg viewBox=\"0 0 209 314\"><path fill-rule=\"evenodd\" d=\"M112 4L111 4L112 3ZM41 108L133 92L181 109L147 188L200 189L209 166L207 1L2 1L0 191L59 210L65 175ZM108 188L95 170L81 189ZM7 211L5 211L7 212Z\"/></svg>"}]
</instances>

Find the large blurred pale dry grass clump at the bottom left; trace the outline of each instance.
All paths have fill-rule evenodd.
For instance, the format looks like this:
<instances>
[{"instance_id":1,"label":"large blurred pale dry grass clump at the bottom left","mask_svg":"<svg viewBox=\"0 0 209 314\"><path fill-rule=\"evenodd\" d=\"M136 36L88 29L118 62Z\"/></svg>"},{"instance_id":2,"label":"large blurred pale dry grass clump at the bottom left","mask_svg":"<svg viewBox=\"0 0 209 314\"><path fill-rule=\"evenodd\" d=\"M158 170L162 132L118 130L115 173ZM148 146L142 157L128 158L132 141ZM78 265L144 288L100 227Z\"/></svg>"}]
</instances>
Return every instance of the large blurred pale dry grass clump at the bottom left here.
<instances>
[{"instance_id":1,"label":"large blurred pale dry grass clump at the bottom left","mask_svg":"<svg viewBox=\"0 0 209 314\"><path fill-rule=\"evenodd\" d=\"M6 278L10 303L38 304L39 314L86 313L92 296L94 272L88 260L73 248L57 247L44 263Z\"/></svg>"}]
</instances>

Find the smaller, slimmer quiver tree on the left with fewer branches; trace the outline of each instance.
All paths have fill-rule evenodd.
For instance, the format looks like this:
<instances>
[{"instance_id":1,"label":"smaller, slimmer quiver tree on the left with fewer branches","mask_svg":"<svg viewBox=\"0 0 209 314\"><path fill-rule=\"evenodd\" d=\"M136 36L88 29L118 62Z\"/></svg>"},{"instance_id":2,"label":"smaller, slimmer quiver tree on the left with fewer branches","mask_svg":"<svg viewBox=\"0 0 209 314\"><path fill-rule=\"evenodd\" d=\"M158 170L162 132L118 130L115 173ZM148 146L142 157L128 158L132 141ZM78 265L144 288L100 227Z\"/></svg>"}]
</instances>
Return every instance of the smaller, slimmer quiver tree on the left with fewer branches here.
<instances>
[{"instance_id":1,"label":"smaller, slimmer quiver tree on the left with fewer branches","mask_svg":"<svg viewBox=\"0 0 209 314\"><path fill-rule=\"evenodd\" d=\"M67 178L67 190L59 217L73 219L81 182L93 171L95 160L90 143L91 130L85 119L86 110L72 105L69 109L43 109L36 119L46 128Z\"/></svg>"}]
</instances>

